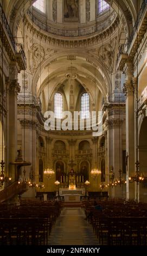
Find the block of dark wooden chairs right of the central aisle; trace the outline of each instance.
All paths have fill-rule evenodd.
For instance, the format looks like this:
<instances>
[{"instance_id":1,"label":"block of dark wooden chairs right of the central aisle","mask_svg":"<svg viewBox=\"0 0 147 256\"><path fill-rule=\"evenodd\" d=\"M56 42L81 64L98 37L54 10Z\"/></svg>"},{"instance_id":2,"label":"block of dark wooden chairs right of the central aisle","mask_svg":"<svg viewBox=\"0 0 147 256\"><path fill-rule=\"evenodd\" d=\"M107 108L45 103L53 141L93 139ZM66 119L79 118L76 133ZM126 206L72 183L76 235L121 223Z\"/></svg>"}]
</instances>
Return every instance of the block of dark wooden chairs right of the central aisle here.
<instances>
[{"instance_id":1,"label":"block of dark wooden chairs right of the central aisle","mask_svg":"<svg viewBox=\"0 0 147 256\"><path fill-rule=\"evenodd\" d=\"M85 200L82 208L100 245L147 245L146 203Z\"/></svg>"}]
</instances>

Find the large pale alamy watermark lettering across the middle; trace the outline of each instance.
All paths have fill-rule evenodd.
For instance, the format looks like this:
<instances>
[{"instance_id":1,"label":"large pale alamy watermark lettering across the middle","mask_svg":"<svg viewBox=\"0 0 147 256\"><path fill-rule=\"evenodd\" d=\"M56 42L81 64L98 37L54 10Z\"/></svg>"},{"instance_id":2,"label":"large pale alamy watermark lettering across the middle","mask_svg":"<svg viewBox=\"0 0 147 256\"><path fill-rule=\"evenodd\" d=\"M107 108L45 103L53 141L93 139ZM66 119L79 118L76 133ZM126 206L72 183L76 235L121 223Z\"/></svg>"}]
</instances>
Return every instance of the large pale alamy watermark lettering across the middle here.
<instances>
[{"instance_id":1,"label":"large pale alamy watermark lettering across the middle","mask_svg":"<svg viewBox=\"0 0 147 256\"><path fill-rule=\"evenodd\" d=\"M103 133L103 111L92 111L85 114L85 118L81 118L81 111L62 112L62 119L56 118L53 111L46 111L44 118L47 120L44 122L44 129L46 131L93 131L93 136L101 136ZM88 118L86 118L88 116Z\"/></svg>"}]
</instances>

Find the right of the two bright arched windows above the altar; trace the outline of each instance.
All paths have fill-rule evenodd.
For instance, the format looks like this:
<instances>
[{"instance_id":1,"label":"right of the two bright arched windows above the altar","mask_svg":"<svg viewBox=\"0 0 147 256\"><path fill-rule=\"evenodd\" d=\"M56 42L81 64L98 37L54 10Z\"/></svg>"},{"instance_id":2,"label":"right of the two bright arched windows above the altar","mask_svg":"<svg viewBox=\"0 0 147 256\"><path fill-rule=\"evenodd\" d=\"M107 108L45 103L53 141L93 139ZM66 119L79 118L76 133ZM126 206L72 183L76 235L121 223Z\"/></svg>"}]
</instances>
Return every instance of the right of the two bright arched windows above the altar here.
<instances>
[{"instance_id":1,"label":"right of the two bright arched windows above the altar","mask_svg":"<svg viewBox=\"0 0 147 256\"><path fill-rule=\"evenodd\" d=\"M81 96L81 118L90 118L90 96L83 93Z\"/></svg>"}]
</instances>

